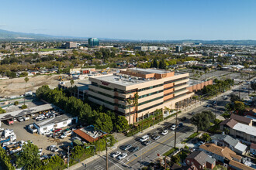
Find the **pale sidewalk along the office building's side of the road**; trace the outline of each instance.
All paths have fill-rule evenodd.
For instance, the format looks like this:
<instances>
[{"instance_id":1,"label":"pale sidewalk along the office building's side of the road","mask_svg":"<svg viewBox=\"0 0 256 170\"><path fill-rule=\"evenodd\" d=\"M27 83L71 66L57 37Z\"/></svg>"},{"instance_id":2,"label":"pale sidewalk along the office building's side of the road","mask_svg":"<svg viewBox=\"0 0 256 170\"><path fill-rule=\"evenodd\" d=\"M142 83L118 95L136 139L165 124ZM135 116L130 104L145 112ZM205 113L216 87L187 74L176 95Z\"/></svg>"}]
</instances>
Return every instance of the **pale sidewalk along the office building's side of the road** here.
<instances>
[{"instance_id":1,"label":"pale sidewalk along the office building's side of the road","mask_svg":"<svg viewBox=\"0 0 256 170\"><path fill-rule=\"evenodd\" d=\"M182 114L188 113L190 110L195 109L196 107L199 107L199 106L202 106L203 104L206 104L206 101L203 101L202 104L200 104L200 103L201 103L201 102L198 102L198 103L196 103L196 104L193 104L193 105L187 107L186 109L182 109L182 110L181 110L182 113L178 114L178 117L180 117ZM162 128L162 127L164 127L164 123L165 123L165 122L171 121L171 120L174 120L174 119L175 119L175 117L169 117L167 120L161 121L159 124L154 124L154 128ZM120 140L120 141L118 141L118 139L117 139L118 142L116 143L115 146L116 146L116 148L118 148L120 145L123 145L123 144L126 143L127 141L133 140L134 138L137 138L137 137L140 136L140 135L147 134L147 133L148 133L149 131L151 131L152 129L153 129L153 127L147 128L147 129L145 129L142 133L139 132L139 133L137 133L137 134L135 134L135 135L133 135L133 136L123 138L123 140ZM108 149L108 152L110 153L110 152L112 152L112 151L115 151L115 150L116 150L115 146L109 148L109 149ZM102 157L103 155L106 155L106 151L100 151L99 154L94 155L94 156L92 156L92 157L90 157L90 158L87 158L87 159L85 159L84 161L82 161L82 162L80 162L80 163L77 163L77 164L71 166L69 169L80 168L82 165L88 164L89 162L92 162L92 161L94 161L95 159Z\"/></svg>"}]
</instances>

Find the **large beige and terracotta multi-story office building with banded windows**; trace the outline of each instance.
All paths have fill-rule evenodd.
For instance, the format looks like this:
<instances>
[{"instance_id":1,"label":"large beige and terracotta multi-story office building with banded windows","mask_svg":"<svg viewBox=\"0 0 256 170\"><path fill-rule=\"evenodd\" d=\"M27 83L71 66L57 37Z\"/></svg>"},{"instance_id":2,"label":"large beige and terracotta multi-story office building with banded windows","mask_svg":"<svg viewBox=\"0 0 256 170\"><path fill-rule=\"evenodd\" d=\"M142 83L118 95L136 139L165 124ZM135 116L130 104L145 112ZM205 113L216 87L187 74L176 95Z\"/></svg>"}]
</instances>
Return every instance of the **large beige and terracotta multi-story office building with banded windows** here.
<instances>
[{"instance_id":1,"label":"large beige and terracotta multi-story office building with banded windows","mask_svg":"<svg viewBox=\"0 0 256 170\"><path fill-rule=\"evenodd\" d=\"M164 107L175 109L191 99L189 73L155 69L120 70L109 76L89 77L88 99L126 116L130 124ZM134 100L136 104L129 104Z\"/></svg>"}]
</instances>

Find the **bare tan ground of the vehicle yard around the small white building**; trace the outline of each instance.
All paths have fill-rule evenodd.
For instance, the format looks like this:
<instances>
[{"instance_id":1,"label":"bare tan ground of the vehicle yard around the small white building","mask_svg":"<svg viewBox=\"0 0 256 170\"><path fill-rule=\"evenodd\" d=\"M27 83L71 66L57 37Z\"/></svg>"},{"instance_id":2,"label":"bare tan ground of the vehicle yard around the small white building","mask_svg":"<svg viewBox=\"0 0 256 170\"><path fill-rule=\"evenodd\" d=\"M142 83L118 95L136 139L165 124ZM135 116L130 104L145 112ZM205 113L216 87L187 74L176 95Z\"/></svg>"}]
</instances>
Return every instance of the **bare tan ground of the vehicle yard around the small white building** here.
<instances>
[{"instance_id":1,"label":"bare tan ground of the vehicle yard around the small white building","mask_svg":"<svg viewBox=\"0 0 256 170\"><path fill-rule=\"evenodd\" d=\"M68 145L71 142L71 137L67 137L64 139L61 138L48 138L47 136L40 135L37 133L32 134L30 131L26 129L26 125L28 124L33 124L36 122L35 117L38 116L39 114L35 114L34 117L30 117L29 121L15 121L14 124L12 125L7 125L6 121L2 122L1 128L9 128L13 129L13 131L16 134L16 141L33 141L34 145L37 145L38 148L43 148L43 154L53 154L54 152L48 151L47 148L50 145L56 145L57 148L59 148L59 151L55 152L54 154L62 154L63 150L59 147L60 145Z\"/></svg>"}]
</instances>

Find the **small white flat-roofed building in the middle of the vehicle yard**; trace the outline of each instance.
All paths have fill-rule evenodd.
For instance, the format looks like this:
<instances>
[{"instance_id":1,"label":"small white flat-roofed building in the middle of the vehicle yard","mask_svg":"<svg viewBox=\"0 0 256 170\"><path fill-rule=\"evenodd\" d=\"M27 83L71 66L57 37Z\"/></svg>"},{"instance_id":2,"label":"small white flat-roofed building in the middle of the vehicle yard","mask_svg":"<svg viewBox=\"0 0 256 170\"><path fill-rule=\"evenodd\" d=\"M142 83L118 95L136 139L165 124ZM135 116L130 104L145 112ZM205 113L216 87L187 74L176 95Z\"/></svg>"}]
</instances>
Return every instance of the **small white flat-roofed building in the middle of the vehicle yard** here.
<instances>
[{"instance_id":1,"label":"small white flat-roofed building in the middle of the vehicle yard","mask_svg":"<svg viewBox=\"0 0 256 170\"><path fill-rule=\"evenodd\" d=\"M69 114L62 114L61 116L44 119L34 123L34 127L39 134L43 134L47 131L51 131L58 128L67 127L67 125L78 123L78 117L71 117Z\"/></svg>"}]
</instances>

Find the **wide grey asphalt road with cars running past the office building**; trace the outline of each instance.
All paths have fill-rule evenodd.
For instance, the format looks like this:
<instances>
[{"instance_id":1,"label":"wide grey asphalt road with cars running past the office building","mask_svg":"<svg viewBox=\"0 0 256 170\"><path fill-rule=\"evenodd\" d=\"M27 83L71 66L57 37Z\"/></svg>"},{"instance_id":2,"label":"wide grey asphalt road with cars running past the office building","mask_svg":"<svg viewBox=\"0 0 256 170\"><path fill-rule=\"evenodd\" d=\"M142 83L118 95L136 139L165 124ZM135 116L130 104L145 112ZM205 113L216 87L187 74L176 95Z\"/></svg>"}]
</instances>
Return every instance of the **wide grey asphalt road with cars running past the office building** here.
<instances>
[{"instance_id":1,"label":"wide grey asphalt road with cars running past the office building","mask_svg":"<svg viewBox=\"0 0 256 170\"><path fill-rule=\"evenodd\" d=\"M221 96L214 98L213 100L206 101L206 104L200 107L195 107L193 110L189 111L189 113L195 112L201 112L202 110L212 110L213 113L216 114L223 114L225 111L225 105L230 102L230 94L234 93L238 95L240 90L240 97L244 98L247 97L248 92L245 89L242 89L243 87L247 86L241 86L236 87L234 90L228 91L227 93L222 94ZM223 99L223 95L227 95L227 100ZM217 100L216 102L216 108L213 107L213 101ZM209 107L206 107L209 105ZM216 111L216 112L215 112ZM189 137L190 134L192 134L195 131L195 128L192 126L192 124L189 124L189 118L192 117L189 114L182 114L178 118L178 123L181 122L181 117L187 117L187 120L184 123L184 126L182 128L178 128L177 133L177 143L179 141L182 141L183 139ZM111 158L111 154L109 153L109 170L110 169L140 169L143 165L147 165L150 162L153 162L155 158L157 158L157 154L162 155L164 152L170 150L174 147L174 138L175 134L174 131L170 130L171 124L174 124L175 120L172 120L170 122L162 122L161 124L164 124L164 129L167 129L169 133L165 136L161 135L161 138L157 141L153 141L150 145L144 146L140 144L139 138L143 136L144 134L137 134L137 138L135 140L127 141L124 145L133 145L133 146L139 146L140 150L137 152L130 152L130 151L122 151L120 148L116 148L113 151L121 151L127 153L127 157L123 160L119 161L117 158ZM161 129L152 128L151 131L149 131L147 134L154 134L154 133L160 133L162 131ZM101 158L95 159L93 162L89 162L85 167L77 168L77 170L81 169L106 169L106 156L102 156Z\"/></svg>"}]
</instances>

